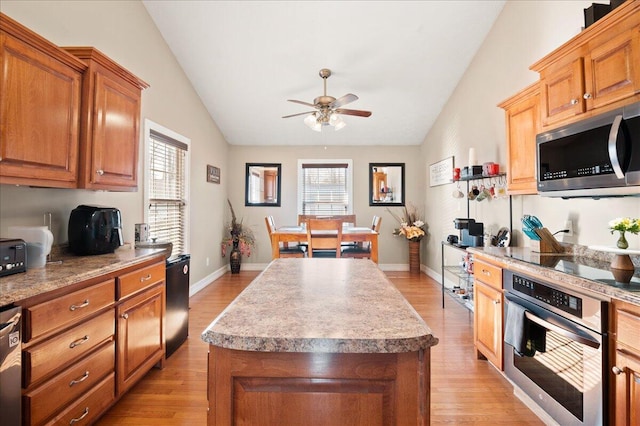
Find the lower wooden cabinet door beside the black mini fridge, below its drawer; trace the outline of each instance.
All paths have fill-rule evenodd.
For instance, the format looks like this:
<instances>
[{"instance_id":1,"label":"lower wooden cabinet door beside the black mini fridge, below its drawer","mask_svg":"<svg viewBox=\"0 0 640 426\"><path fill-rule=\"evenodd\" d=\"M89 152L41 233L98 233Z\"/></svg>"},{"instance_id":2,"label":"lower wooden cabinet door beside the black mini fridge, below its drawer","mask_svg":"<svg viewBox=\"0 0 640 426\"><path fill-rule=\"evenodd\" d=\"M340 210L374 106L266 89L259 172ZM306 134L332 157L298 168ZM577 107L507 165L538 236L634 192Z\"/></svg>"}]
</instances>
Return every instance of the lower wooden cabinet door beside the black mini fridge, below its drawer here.
<instances>
[{"instance_id":1,"label":"lower wooden cabinet door beside the black mini fridge, below its drawer","mask_svg":"<svg viewBox=\"0 0 640 426\"><path fill-rule=\"evenodd\" d=\"M118 395L164 359L164 282L118 306Z\"/></svg>"}]
</instances>

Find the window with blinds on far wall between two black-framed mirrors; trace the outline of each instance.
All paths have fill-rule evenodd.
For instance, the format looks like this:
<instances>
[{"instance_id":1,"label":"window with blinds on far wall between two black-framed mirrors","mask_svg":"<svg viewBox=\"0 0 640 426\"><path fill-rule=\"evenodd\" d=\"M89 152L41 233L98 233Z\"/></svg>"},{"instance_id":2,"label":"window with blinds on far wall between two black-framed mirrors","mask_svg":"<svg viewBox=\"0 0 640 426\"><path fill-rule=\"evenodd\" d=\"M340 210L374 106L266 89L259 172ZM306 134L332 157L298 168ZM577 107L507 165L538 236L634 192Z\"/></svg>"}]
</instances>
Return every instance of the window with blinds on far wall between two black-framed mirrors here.
<instances>
[{"instance_id":1,"label":"window with blinds on far wall between two black-framed mirrors","mask_svg":"<svg viewBox=\"0 0 640 426\"><path fill-rule=\"evenodd\" d=\"M302 214L349 212L347 163L302 163Z\"/></svg>"}]
</instances>

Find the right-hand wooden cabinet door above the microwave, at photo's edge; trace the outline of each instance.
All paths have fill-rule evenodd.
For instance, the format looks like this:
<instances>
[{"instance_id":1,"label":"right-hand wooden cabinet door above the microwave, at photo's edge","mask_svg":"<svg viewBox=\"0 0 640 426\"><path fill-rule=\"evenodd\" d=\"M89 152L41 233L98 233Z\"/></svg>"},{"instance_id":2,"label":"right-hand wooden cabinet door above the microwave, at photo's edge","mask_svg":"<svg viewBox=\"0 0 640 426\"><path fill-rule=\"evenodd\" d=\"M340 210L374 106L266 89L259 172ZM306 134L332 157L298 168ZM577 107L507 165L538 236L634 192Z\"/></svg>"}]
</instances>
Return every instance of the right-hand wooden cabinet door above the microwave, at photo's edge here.
<instances>
[{"instance_id":1,"label":"right-hand wooden cabinet door above the microwave, at photo's edge","mask_svg":"<svg viewBox=\"0 0 640 426\"><path fill-rule=\"evenodd\" d=\"M584 98L588 110L640 93L638 58L640 28L623 32L585 56Z\"/></svg>"}]
</instances>

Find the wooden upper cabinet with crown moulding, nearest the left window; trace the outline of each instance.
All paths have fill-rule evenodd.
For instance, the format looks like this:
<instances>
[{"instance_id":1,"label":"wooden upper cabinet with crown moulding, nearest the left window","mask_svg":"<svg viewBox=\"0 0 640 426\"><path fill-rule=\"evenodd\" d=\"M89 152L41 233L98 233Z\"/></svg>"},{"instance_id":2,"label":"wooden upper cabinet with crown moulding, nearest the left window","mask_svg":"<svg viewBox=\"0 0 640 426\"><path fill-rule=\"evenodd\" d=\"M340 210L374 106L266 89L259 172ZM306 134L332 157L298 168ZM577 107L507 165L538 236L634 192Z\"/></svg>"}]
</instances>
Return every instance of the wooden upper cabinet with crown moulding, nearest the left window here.
<instances>
[{"instance_id":1,"label":"wooden upper cabinet with crown moulding, nearest the left window","mask_svg":"<svg viewBox=\"0 0 640 426\"><path fill-rule=\"evenodd\" d=\"M78 187L136 191L140 104L147 83L93 47L65 47L87 64Z\"/></svg>"}]
</instances>

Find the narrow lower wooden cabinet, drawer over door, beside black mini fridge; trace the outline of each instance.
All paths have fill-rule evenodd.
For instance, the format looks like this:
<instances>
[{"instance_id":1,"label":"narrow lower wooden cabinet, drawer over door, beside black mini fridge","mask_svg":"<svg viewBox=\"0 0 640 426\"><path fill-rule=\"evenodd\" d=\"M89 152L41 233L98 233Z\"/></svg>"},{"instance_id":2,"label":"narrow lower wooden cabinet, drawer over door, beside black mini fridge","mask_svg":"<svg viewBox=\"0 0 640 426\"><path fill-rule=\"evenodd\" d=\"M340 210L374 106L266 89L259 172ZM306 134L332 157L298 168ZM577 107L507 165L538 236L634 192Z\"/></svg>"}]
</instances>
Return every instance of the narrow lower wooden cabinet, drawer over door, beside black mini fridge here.
<instances>
[{"instance_id":1,"label":"narrow lower wooden cabinet, drawer over door, beside black mini fridge","mask_svg":"<svg viewBox=\"0 0 640 426\"><path fill-rule=\"evenodd\" d=\"M121 293L117 306L117 382L122 395L154 365L164 362L165 335L164 262L118 277L120 288L140 285ZM161 272L161 274L160 274Z\"/></svg>"}]
</instances>

